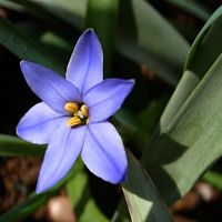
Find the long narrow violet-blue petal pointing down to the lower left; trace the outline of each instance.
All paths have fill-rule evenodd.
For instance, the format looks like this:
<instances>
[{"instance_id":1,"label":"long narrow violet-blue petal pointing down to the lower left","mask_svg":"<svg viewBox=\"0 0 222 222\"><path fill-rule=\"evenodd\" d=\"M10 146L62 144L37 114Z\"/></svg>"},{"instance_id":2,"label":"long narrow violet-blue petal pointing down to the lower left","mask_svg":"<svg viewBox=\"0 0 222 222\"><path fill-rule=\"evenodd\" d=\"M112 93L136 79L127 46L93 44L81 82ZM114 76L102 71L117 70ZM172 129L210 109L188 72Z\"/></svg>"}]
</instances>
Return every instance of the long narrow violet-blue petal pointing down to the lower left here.
<instances>
[{"instance_id":1,"label":"long narrow violet-blue petal pointing down to the lower left","mask_svg":"<svg viewBox=\"0 0 222 222\"><path fill-rule=\"evenodd\" d=\"M85 127L65 127L65 122L58 128L44 154L37 193L51 188L69 172L82 150L85 130Z\"/></svg>"}]
</instances>

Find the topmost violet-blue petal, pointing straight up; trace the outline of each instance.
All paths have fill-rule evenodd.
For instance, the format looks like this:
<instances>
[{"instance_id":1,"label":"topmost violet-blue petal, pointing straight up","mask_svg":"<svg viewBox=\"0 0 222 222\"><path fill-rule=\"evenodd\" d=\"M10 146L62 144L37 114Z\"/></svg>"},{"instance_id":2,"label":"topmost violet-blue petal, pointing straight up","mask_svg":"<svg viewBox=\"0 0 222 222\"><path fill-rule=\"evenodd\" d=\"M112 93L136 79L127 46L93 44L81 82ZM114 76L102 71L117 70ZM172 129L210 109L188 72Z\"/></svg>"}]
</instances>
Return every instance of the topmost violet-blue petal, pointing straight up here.
<instances>
[{"instance_id":1,"label":"topmost violet-blue petal, pointing straight up","mask_svg":"<svg viewBox=\"0 0 222 222\"><path fill-rule=\"evenodd\" d=\"M101 82L103 79L103 54L101 44L92 29L79 38L67 68L67 80L80 92Z\"/></svg>"}]
</instances>

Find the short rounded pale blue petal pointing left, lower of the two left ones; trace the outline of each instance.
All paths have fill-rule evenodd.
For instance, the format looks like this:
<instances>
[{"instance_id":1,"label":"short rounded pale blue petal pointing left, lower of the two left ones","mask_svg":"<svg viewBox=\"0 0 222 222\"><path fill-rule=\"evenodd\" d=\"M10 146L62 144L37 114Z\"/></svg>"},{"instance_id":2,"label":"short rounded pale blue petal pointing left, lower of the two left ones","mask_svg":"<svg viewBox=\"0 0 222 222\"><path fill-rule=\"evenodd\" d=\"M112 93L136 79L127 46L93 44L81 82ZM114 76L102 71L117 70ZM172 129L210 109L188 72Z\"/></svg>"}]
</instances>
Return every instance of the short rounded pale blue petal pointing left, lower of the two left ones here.
<instances>
[{"instance_id":1,"label":"short rounded pale blue petal pointing left, lower of the two left ones","mask_svg":"<svg viewBox=\"0 0 222 222\"><path fill-rule=\"evenodd\" d=\"M44 102L40 102L20 120L17 134L29 142L46 144L62 119L67 118L54 112Z\"/></svg>"}]
</instances>

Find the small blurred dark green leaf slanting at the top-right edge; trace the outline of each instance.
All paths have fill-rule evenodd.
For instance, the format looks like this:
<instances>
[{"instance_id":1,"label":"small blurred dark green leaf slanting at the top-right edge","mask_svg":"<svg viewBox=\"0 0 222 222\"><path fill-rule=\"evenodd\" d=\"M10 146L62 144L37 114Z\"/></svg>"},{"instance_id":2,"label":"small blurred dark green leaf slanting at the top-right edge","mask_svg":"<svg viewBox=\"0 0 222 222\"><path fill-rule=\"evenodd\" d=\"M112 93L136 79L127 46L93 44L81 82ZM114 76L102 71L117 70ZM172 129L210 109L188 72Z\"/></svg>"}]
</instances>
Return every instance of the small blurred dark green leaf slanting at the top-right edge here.
<instances>
[{"instance_id":1,"label":"small blurred dark green leaf slanting at the top-right edge","mask_svg":"<svg viewBox=\"0 0 222 222\"><path fill-rule=\"evenodd\" d=\"M210 17L210 11L195 0L167 0L168 2L190 12L196 18L205 21Z\"/></svg>"}]
</instances>

